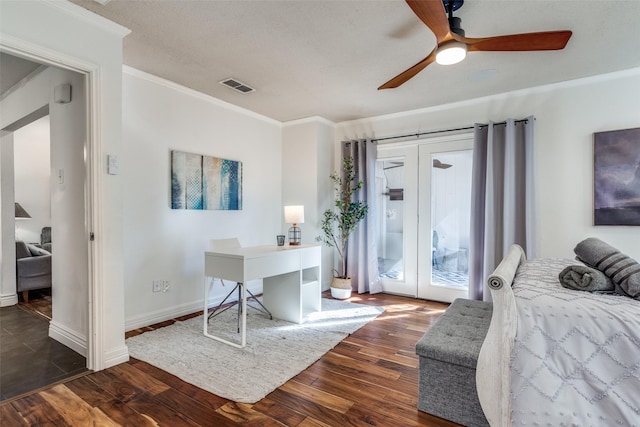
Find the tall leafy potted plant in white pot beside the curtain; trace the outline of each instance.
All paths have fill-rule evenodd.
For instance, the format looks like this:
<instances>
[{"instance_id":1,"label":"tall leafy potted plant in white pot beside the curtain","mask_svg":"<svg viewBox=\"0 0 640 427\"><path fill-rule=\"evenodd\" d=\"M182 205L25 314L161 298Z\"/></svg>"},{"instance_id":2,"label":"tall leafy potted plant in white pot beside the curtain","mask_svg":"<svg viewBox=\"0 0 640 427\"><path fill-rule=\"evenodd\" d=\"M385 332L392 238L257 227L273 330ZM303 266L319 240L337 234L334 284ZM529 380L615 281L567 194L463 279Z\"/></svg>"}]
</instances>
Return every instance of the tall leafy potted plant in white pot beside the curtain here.
<instances>
[{"instance_id":1,"label":"tall leafy potted plant in white pot beside the curtain","mask_svg":"<svg viewBox=\"0 0 640 427\"><path fill-rule=\"evenodd\" d=\"M354 194L363 182L356 181L352 157L345 157L342 171L343 175L334 172L329 176L335 187L336 199L334 207L324 211L321 223L323 234L316 237L316 241L334 247L338 252L340 263L333 270L331 281L331 296L338 299L351 296L351 277L347 274L347 241L368 210L366 203L354 200Z\"/></svg>"}]
</instances>

